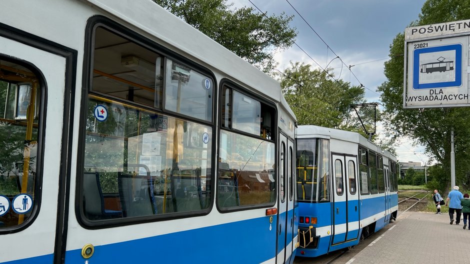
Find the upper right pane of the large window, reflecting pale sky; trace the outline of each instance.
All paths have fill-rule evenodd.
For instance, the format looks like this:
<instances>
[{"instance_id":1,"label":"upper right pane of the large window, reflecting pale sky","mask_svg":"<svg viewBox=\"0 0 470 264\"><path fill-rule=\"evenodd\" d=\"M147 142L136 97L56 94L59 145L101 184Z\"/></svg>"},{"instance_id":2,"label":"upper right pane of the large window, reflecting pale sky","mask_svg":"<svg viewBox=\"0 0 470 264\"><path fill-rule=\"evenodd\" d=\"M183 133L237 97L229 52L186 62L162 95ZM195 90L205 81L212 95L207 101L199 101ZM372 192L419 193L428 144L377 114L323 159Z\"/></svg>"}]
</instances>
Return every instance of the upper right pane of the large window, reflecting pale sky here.
<instances>
[{"instance_id":1,"label":"upper right pane of the large window, reflecting pale sky","mask_svg":"<svg viewBox=\"0 0 470 264\"><path fill-rule=\"evenodd\" d=\"M165 109L211 121L212 79L170 59L165 64Z\"/></svg>"}]
</instances>

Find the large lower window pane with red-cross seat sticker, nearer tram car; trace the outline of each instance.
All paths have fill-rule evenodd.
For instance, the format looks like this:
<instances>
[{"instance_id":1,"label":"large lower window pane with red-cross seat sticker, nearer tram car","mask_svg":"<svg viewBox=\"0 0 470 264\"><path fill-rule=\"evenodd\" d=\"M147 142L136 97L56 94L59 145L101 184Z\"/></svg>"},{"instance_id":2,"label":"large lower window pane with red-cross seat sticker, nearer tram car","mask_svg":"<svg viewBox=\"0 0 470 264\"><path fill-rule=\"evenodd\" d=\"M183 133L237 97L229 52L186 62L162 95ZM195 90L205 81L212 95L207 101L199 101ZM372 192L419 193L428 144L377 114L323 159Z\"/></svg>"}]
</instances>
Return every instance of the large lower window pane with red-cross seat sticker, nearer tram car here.
<instances>
[{"instance_id":1,"label":"large lower window pane with red-cross seat sticker, nearer tram car","mask_svg":"<svg viewBox=\"0 0 470 264\"><path fill-rule=\"evenodd\" d=\"M107 114L104 120L97 109ZM81 208L87 220L209 207L210 126L90 94L85 129Z\"/></svg>"}]
</instances>

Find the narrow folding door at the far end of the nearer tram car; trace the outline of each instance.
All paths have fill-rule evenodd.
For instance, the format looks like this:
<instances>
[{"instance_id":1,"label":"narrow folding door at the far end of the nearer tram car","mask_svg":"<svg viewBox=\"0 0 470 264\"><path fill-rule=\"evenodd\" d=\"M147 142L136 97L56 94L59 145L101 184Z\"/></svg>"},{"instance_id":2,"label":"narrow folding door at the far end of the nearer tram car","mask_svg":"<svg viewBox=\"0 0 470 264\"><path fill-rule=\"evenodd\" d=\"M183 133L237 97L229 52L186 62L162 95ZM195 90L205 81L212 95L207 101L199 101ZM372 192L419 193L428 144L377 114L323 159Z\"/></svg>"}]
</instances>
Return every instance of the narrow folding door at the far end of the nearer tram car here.
<instances>
[{"instance_id":1,"label":"narrow folding door at the far end of the nearer tram car","mask_svg":"<svg viewBox=\"0 0 470 264\"><path fill-rule=\"evenodd\" d=\"M284 263L290 256L292 249L286 250L288 244L288 143L287 137L279 134L279 159L278 159L278 175L279 175L279 207L277 209L277 263ZM287 252L290 251L290 252ZM286 258L287 257L287 258Z\"/></svg>"}]
</instances>

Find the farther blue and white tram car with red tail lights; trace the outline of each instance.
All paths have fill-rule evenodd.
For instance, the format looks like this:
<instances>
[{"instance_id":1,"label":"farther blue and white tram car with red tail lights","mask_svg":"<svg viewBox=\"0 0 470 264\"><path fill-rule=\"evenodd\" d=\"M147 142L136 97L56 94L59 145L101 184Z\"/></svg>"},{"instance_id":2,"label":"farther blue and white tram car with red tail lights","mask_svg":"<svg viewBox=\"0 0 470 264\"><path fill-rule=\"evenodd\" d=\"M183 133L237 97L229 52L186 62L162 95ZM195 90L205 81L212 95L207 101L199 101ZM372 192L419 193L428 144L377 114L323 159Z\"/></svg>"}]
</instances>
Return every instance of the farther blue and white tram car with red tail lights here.
<instances>
[{"instance_id":1,"label":"farther blue and white tram car with red tail lights","mask_svg":"<svg viewBox=\"0 0 470 264\"><path fill-rule=\"evenodd\" d=\"M297 256L357 244L396 218L396 158L355 132L297 129Z\"/></svg>"}]
</instances>

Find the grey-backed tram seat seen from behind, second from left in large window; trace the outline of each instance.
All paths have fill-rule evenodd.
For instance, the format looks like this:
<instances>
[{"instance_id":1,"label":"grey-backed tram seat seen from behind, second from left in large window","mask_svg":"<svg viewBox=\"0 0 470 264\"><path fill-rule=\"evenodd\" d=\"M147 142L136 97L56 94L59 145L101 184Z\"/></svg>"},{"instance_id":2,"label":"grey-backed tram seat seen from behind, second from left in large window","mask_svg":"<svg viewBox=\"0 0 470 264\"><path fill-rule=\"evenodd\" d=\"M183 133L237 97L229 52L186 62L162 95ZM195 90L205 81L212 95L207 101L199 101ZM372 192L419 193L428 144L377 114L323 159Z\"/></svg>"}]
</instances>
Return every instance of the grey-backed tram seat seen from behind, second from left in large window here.
<instances>
[{"instance_id":1,"label":"grey-backed tram seat seen from behind, second from left in large window","mask_svg":"<svg viewBox=\"0 0 470 264\"><path fill-rule=\"evenodd\" d=\"M149 176L118 172L117 187L124 217L157 213L156 202L151 191L152 180Z\"/></svg>"}]
</instances>

